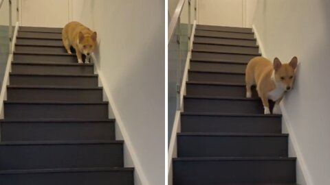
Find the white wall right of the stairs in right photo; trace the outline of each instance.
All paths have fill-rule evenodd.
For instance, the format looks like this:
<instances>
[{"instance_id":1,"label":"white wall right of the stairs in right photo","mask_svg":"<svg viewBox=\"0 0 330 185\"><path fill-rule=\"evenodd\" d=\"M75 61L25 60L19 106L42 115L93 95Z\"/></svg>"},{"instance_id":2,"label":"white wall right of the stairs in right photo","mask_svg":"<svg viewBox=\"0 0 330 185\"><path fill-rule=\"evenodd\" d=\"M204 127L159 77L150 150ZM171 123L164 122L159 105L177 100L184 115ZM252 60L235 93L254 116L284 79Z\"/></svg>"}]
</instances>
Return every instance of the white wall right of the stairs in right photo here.
<instances>
[{"instance_id":1,"label":"white wall right of the stairs in right photo","mask_svg":"<svg viewBox=\"0 0 330 185\"><path fill-rule=\"evenodd\" d=\"M259 0L254 16L266 56L285 62L297 56L300 63L283 101L283 126L301 185L330 184L329 8L327 0Z\"/></svg>"}]
</instances>

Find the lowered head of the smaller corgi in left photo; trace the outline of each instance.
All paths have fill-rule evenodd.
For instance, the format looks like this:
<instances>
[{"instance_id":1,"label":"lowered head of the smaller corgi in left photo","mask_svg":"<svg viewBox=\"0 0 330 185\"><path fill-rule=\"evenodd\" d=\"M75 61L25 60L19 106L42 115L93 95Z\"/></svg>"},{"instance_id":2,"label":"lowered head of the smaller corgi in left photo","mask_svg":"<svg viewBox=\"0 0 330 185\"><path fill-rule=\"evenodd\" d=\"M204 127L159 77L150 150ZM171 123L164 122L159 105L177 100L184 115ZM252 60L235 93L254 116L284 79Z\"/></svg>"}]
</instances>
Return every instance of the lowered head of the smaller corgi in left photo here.
<instances>
[{"instance_id":1,"label":"lowered head of the smaller corgi in left photo","mask_svg":"<svg viewBox=\"0 0 330 185\"><path fill-rule=\"evenodd\" d=\"M91 35L84 35L82 32L79 32L78 43L80 51L84 53L85 56L89 56L95 49L96 32Z\"/></svg>"}]
</instances>

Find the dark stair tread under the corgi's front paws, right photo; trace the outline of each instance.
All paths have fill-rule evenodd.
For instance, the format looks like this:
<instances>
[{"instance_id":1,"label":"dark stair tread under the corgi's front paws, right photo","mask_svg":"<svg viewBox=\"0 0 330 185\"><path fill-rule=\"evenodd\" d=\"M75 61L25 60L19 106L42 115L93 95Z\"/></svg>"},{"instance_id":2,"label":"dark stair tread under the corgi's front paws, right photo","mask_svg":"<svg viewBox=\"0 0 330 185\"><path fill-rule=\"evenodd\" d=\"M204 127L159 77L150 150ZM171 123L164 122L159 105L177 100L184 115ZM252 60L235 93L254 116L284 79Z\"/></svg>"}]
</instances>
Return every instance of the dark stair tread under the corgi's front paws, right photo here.
<instances>
[{"instance_id":1,"label":"dark stair tread under the corgi's front paws, right photo","mask_svg":"<svg viewBox=\"0 0 330 185\"><path fill-rule=\"evenodd\" d=\"M253 117L282 117L281 114L242 114L242 113L213 113L213 112L181 112L186 116L253 116Z\"/></svg>"}]
</instances>

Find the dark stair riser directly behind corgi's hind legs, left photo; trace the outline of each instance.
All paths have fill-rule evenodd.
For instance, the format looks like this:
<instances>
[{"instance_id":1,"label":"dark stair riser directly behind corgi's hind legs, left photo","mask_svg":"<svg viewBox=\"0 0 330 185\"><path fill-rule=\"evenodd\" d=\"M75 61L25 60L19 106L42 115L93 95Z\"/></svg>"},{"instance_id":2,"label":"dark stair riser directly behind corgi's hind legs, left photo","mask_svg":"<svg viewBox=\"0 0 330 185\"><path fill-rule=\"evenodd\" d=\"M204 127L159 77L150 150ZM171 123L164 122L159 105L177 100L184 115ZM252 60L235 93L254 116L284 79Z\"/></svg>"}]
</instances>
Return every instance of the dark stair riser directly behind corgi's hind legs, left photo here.
<instances>
[{"instance_id":1,"label":"dark stair riser directly behind corgi's hind legs, left photo","mask_svg":"<svg viewBox=\"0 0 330 185\"><path fill-rule=\"evenodd\" d=\"M63 46L39 46L39 45L15 45L15 51L25 52L25 51L34 51L34 52L50 52L50 53L67 53L67 50Z\"/></svg>"}]
</instances>

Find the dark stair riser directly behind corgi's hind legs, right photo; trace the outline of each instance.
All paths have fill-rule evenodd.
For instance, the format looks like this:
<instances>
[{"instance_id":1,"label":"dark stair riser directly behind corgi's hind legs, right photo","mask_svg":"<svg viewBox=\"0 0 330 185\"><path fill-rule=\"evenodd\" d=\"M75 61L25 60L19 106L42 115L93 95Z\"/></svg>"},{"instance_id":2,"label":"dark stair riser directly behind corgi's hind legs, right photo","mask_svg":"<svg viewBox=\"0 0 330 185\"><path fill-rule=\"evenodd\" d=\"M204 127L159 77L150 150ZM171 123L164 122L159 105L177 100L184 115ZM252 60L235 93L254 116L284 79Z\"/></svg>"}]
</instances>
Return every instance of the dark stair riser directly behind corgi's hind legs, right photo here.
<instances>
[{"instance_id":1,"label":"dark stair riser directly behind corgi's hind legs, right photo","mask_svg":"<svg viewBox=\"0 0 330 185\"><path fill-rule=\"evenodd\" d=\"M205 95L217 97L245 97L245 84L217 82L186 82L186 95ZM252 96L258 97L252 87Z\"/></svg>"}]
</instances>

